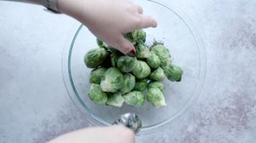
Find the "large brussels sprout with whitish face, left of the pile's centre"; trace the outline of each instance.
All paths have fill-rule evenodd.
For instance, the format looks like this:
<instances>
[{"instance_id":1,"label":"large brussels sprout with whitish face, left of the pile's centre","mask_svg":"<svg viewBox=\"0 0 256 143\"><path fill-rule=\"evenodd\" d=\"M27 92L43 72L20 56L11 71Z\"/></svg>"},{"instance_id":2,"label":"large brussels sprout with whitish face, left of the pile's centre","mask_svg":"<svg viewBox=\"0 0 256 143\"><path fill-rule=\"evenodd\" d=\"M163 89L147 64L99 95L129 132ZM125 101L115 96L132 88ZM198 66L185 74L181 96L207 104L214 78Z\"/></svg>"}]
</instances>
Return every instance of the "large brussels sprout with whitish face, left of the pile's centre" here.
<instances>
[{"instance_id":1,"label":"large brussels sprout with whitish face, left of the pile's centre","mask_svg":"<svg viewBox=\"0 0 256 143\"><path fill-rule=\"evenodd\" d=\"M117 68L109 68L101 78L101 89L106 92L115 92L122 86L123 74Z\"/></svg>"}]
</instances>

